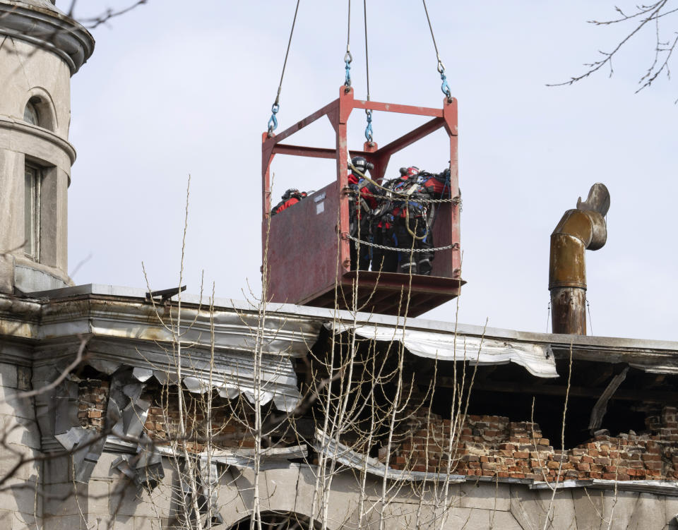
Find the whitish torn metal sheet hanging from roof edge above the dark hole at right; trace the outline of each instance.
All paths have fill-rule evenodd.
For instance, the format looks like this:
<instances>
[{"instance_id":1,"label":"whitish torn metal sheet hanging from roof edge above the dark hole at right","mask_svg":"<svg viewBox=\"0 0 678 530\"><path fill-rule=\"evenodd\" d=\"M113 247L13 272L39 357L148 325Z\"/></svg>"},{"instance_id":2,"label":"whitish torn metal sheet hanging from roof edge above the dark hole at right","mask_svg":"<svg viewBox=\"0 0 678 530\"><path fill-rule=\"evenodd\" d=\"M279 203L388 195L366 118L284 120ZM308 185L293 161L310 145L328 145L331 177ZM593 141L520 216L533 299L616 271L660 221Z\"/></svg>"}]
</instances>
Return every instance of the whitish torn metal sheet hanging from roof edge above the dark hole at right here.
<instances>
[{"instance_id":1,"label":"whitish torn metal sheet hanging from roof edge above the dark hole at right","mask_svg":"<svg viewBox=\"0 0 678 530\"><path fill-rule=\"evenodd\" d=\"M516 363L540 378L557 378L556 363L548 344L521 344L484 337L379 325L326 323L335 333L355 330L366 339L401 342L411 354L439 361L468 361L471 365Z\"/></svg>"}]
</instances>

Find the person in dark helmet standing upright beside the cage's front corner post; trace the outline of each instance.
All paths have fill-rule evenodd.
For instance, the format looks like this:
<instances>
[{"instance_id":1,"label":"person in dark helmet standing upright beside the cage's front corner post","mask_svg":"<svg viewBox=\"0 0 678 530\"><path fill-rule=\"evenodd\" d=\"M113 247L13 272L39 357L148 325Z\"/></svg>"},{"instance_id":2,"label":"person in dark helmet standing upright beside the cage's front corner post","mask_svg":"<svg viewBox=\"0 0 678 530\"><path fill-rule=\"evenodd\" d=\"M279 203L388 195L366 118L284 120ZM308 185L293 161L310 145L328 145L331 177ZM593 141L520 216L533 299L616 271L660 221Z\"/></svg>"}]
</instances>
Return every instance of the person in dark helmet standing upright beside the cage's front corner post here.
<instances>
[{"instance_id":1,"label":"person in dark helmet standing upright beside the cage's front corner post","mask_svg":"<svg viewBox=\"0 0 678 530\"><path fill-rule=\"evenodd\" d=\"M379 206L379 189L364 178L368 169L374 166L364 157L353 157L349 166L348 187L352 189L349 198L350 234L360 241L370 241L371 212ZM358 251L359 246L359 251ZM359 245L351 240L351 270L369 270L371 251L368 245Z\"/></svg>"}]
</instances>

